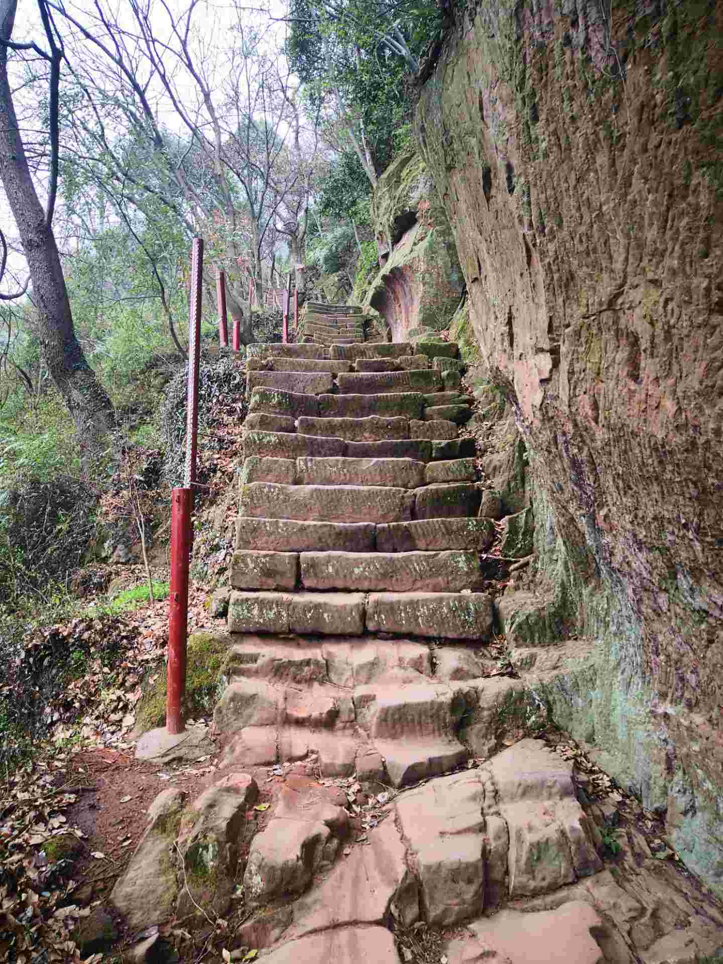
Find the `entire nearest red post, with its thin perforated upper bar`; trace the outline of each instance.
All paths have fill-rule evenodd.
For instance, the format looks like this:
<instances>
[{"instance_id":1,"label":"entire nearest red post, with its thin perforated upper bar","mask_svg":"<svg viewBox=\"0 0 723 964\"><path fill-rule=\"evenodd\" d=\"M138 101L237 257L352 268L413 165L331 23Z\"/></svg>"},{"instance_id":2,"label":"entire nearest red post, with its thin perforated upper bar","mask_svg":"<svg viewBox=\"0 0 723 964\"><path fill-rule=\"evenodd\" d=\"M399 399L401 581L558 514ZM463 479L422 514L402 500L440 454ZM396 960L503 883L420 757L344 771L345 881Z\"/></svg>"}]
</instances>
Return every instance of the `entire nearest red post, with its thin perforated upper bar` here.
<instances>
[{"instance_id":1,"label":"entire nearest red post, with its thin perforated upper bar","mask_svg":"<svg viewBox=\"0 0 723 964\"><path fill-rule=\"evenodd\" d=\"M201 348L201 274L203 241L194 238L191 258L191 317L188 326L188 391L186 395L186 464L183 488L174 489L171 503L171 586L169 600L166 729L183 733L188 642L188 568L191 556L191 513L196 480L199 431L199 363Z\"/></svg>"}]
</instances>

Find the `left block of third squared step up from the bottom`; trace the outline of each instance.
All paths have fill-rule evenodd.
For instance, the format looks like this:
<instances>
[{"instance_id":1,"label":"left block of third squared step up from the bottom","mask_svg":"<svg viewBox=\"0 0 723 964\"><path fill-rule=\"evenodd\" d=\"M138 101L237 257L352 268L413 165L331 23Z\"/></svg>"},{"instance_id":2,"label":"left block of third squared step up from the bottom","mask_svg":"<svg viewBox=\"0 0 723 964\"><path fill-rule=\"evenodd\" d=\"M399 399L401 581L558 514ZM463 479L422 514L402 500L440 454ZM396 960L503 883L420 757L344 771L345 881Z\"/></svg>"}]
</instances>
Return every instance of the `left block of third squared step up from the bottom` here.
<instances>
[{"instance_id":1,"label":"left block of third squared step up from the bottom","mask_svg":"<svg viewBox=\"0 0 723 964\"><path fill-rule=\"evenodd\" d=\"M240 516L236 519L235 547L285 552L370 552L374 549L374 536L373 522L300 522Z\"/></svg>"}]
</instances>

